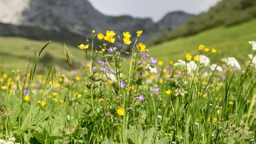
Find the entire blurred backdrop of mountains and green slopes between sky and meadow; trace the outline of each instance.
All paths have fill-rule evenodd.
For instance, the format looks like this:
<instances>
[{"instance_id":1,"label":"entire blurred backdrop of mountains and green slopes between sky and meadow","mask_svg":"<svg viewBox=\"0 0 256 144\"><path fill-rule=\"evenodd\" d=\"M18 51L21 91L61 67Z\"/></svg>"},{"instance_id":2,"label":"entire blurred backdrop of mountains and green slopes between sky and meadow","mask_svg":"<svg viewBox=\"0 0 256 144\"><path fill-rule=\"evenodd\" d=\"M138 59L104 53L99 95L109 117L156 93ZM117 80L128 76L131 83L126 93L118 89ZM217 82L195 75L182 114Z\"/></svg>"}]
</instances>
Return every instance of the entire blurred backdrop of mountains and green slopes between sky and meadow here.
<instances>
[{"instance_id":1,"label":"entire blurred backdrop of mountains and green slopes between sky and meadow","mask_svg":"<svg viewBox=\"0 0 256 144\"><path fill-rule=\"evenodd\" d=\"M256 40L255 0L222 0L199 15L173 11L157 22L129 15L108 16L84 0L2 0L0 9L0 67L7 69L26 68L34 62L34 51L49 40L53 43L43 54L42 70L52 61L66 67L63 43L75 55L73 68L86 66L77 45L85 43L93 29L97 33L115 30L117 35L130 31L133 40L135 31L143 30L141 41L147 43L150 56L164 61L182 59L183 51L196 53L199 44L217 49L216 59L231 50L229 55L242 60L246 54L241 50L251 49L247 41Z\"/></svg>"}]
</instances>

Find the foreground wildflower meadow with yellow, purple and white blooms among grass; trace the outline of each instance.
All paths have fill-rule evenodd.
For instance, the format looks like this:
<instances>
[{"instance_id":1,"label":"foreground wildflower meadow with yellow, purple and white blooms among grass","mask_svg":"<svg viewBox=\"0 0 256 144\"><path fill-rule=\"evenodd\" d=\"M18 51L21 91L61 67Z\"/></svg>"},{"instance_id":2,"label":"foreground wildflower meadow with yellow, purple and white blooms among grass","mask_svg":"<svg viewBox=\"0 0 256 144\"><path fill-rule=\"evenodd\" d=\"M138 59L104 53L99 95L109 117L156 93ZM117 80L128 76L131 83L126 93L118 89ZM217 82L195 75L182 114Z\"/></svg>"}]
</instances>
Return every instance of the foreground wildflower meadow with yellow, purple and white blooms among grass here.
<instances>
[{"instance_id":1,"label":"foreground wildflower meadow with yellow, purple and white blooms among grass","mask_svg":"<svg viewBox=\"0 0 256 144\"><path fill-rule=\"evenodd\" d=\"M1 67L0 143L254 143L256 42L245 63L213 63L222 47L199 44L197 55L161 61L133 33L93 30L77 47L80 69L64 44L66 69L52 61L39 73L51 41L25 71Z\"/></svg>"}]
</instances>

